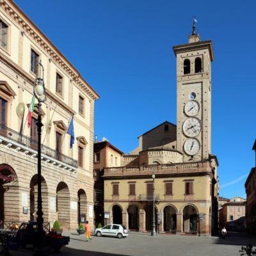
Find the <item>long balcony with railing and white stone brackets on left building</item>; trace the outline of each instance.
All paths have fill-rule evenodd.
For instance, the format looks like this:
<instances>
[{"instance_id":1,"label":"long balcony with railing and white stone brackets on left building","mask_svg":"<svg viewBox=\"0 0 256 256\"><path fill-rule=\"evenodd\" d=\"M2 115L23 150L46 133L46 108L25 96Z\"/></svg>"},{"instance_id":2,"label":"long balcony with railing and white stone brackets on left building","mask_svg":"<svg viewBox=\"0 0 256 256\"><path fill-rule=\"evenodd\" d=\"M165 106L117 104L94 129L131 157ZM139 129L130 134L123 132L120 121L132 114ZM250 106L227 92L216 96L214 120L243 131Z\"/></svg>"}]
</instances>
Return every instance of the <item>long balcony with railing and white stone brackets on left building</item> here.
<instances>
[{"instance_id":1,"label":"long balcony with railing and white stone brackets on left building","mask_svg":"<svg viewBox=\"0 0 256 256\"><path fill-rule=\"evenodd\" d=\"M24 152L27 156L34 158L37 156L38 145L36 140L32 140L17 131L13 131L4 124L0 124L0 144L6 145L7 148L14 148L16 152ZM51 163L65 170L76 172L76 160L42 144L41 150L42 161Z\"/></svg>"}]
</instances>

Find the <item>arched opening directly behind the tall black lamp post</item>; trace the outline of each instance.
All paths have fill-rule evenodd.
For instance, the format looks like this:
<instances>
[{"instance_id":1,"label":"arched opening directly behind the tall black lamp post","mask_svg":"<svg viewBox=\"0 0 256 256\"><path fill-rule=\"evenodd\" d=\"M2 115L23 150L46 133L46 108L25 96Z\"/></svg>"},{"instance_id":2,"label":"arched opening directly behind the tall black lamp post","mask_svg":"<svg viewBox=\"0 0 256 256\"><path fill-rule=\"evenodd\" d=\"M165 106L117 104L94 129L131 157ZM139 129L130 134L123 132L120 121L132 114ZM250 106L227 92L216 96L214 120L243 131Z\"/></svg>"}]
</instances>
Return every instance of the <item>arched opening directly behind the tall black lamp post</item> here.
<instances>
[{"instance_id":1,"label":"arched opening directly behind the tall black lamp post","mask_svg":"<svg viewBox=\"0 0 256 256\"><path fill-rule=\"evenodd\" d=\"M37 217L37 199L38 199L38 175L35 174L30 180L30 193L29 193L29 205L30 205L30 220L36 221ZM42 191L42 211L44 212L44 221L49 221L49 203L48 203L48 188L44 177L41 175L41 191Z\"/></svg>"}]
</instances>

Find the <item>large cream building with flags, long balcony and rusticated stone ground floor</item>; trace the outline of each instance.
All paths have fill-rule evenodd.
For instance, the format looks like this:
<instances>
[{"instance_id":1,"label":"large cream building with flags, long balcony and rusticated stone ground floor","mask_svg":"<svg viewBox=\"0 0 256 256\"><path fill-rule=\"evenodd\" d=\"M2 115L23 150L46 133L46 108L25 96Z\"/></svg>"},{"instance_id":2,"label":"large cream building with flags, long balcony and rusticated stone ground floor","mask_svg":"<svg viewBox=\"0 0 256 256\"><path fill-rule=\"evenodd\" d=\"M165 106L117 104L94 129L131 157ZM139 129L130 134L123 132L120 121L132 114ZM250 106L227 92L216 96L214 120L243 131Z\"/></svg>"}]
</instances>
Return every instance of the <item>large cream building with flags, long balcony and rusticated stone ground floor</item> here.
<instances>
[{"instance_id":1,"label":"large cream building with flags, long balcony and rusticated stone ground floor","mask_svg":"<svg viewBox=\"0 0 256 256\"><path fill-rule=\"evenodd\" d=\"M13 1L0 1L0 220L36 218L37 100L27 116L38 62L44 66L42 200L44 221L93 223L94 102L99 95ZM74 117L75 141L66 135Z\"/></svg>"}]
</instances>

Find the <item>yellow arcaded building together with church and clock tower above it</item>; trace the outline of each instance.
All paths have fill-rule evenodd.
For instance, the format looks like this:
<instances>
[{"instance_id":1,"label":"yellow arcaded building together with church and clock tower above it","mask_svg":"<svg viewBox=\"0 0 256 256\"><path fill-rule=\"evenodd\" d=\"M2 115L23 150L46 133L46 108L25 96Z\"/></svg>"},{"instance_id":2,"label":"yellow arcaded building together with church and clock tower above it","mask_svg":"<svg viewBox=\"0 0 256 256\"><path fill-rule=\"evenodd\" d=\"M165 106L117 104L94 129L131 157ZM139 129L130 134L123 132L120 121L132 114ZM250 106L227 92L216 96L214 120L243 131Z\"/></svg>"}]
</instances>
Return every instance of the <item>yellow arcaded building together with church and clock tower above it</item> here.
<instances>
[{"instance_id":1,"label":"yellow arcaded building together with church and clock tower above it","mask_svg":"<svg viewBox=\"0 0 256 256\"><path fill-rule=\"evenodd\" d=\"M104 170L106 223L159 232L211 235L218 228L218 160L211 153L212 42L195 32L173 47L177 59L177 125L139 136L120 167ZM154 174L154 175L153 175Z\"/></svg>"}]
</instances>

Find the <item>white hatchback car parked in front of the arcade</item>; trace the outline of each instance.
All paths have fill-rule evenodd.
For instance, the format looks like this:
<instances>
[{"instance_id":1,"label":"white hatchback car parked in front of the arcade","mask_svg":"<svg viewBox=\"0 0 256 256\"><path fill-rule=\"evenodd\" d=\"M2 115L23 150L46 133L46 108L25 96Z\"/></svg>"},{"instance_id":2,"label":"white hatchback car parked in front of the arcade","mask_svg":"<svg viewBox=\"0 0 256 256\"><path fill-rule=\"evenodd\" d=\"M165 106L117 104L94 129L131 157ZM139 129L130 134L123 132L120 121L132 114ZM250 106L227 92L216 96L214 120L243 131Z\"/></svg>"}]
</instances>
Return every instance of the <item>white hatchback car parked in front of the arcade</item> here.
<instances>
[{"instance_id":1,"label":"white hatchback car parked in front of the arcade","mask_svg":"<svg viewBox=\"0 0 256 256\"><path fill-rule=\"evenodd\" d=\"M102 228L95 229L96 236L116 236L118 238L127 237L128 230L124 225L109 224Z\"/></svg>"}]
</instances>

